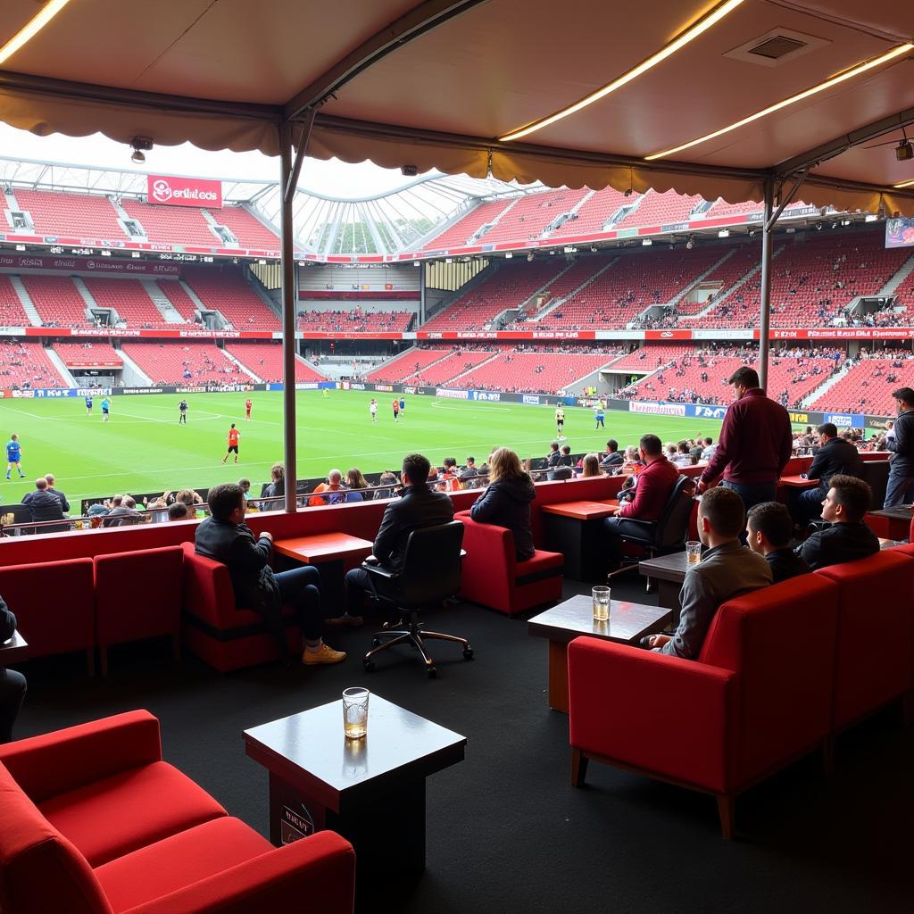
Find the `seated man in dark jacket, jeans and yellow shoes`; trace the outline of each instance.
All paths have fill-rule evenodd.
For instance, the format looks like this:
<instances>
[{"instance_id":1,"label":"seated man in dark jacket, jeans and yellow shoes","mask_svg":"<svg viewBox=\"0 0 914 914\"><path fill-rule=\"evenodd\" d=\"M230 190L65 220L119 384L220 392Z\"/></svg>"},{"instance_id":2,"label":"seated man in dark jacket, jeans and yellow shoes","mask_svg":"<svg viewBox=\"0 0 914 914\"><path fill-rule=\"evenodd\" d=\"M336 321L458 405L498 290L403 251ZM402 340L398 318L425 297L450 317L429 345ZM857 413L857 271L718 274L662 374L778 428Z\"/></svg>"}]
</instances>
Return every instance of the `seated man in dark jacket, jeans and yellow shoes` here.
<instances>
[{"instance_id":1,"label":"seated man in dark jacket, jeans and yellow shoes","mask_svg":"<svg viewBox=\"0 0 914 914\"><path fill-rule=\"evenodd\" d=\"M211 516L197 527L197 554L226 566L235 590L236 605L263 617L268 631L281 649L283 659L287 647L282 625L282 603L290 603L302 627L302 663L312 666L338 664L345 660L344 652L335 651L322 638L324 622L318 570L313 566L303 566L273 574L269 565L273 537L264 532L255 539L250 527L244 523L247 503L238 484L213 486L207 495L207 504Z\"/></svg>"}]
</instances>

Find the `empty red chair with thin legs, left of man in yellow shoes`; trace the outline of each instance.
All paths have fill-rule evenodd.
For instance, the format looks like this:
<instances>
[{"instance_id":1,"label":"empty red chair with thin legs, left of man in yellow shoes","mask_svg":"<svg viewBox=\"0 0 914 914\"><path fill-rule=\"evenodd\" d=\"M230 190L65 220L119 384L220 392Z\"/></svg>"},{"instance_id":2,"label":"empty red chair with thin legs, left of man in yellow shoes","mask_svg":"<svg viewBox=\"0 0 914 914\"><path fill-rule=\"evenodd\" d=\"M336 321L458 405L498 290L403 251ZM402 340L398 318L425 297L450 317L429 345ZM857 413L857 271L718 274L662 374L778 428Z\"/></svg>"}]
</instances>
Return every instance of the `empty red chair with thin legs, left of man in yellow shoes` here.
<instances>
[{"instance_id":1,"label":"empty red chair with thin legs, left of man in yellow shoes","mask_svg":"<svg viewBox=\"0 0 914 914\"><path fill-rule=\"evenodd\" d=\"M184 550L179 546L112 552L95 558L95 632L101 672L112 644L171 635L181 647Z\"/></svg>"}]
</instances>

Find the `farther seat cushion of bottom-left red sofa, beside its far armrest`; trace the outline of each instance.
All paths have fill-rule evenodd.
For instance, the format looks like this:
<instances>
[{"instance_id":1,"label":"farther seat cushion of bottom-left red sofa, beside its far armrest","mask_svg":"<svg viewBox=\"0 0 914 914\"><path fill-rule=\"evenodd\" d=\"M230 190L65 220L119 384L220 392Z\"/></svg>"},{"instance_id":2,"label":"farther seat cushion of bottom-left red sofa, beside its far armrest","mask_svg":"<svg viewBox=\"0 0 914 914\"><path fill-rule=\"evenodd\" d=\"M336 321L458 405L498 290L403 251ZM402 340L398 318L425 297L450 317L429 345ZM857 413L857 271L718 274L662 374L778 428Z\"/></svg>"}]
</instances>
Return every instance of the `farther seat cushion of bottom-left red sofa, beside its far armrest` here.
<instances>
[{"instance_id":1,"label":"farther seat cushion of bottom-left red sofa, beside its far armrest","mask_svg":"<svg viewBox=\"0 0 914 914\"><path fill-rule=\"evenodd\" d=\"M165 761L58 794L38 808L92 867L228 814Z\"/></svg>"}]
</instances>

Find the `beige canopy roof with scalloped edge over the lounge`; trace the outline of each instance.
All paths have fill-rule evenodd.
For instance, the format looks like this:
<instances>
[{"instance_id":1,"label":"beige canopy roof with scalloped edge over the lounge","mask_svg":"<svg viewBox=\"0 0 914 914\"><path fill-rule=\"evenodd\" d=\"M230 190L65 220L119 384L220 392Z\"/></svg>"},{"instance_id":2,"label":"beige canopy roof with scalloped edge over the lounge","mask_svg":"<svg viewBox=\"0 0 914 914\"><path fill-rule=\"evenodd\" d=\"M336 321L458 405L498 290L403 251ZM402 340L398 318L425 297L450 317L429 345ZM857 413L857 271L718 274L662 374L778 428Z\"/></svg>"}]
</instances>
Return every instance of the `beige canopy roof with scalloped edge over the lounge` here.
<instances>
[{"instance_id":1,"label":"beige canopy roof with scalloped edge over the lounge","mask_svg":"<svg viewBox=\"0 0 914 914\"><path fill-rule=\"evenodd\" d=\"M914 161L895 155L914 123L910 0L743 0L600 101L498 140L616 80L720 5L71 0L0 69L0 119L277 154L280 123L314 108L318 157L731 201L760 199L766 175L809 168L806 201L914 213L914 185L891 189L914 181ZM5 0L0 44L35 11L34 0ZM749 52L767 37L777 41L764 55ZM894 48L903 52L854 79L645 159Z\"/></svg>"}]
</instances>

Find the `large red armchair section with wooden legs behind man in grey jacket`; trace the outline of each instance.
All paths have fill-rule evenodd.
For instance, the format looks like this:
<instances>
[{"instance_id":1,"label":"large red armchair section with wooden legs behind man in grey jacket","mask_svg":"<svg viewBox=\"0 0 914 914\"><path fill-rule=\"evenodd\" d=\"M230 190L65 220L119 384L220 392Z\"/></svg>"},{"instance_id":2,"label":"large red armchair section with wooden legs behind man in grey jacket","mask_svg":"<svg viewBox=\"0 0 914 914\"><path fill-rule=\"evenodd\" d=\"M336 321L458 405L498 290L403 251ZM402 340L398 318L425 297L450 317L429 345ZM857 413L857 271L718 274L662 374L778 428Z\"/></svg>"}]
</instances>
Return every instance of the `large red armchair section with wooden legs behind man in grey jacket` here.
<instances>
[{"instance_id":1,"label":"large red armchair section with wooden legs behind man in grey jacket","mask_svg":"<svg viewBox=\"0 0 914 914\"><path fill-rule=\"evenodd\" d=\"M837 590L805 575L728 600L697 661L570 643L572 782L598 760L712 793L730 837L739 792L828 749Z\"/></svg>"}]
</instances>

